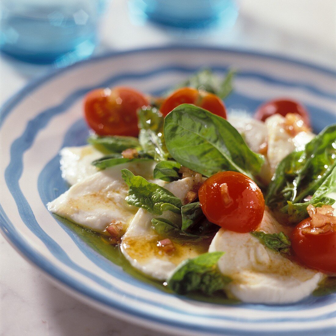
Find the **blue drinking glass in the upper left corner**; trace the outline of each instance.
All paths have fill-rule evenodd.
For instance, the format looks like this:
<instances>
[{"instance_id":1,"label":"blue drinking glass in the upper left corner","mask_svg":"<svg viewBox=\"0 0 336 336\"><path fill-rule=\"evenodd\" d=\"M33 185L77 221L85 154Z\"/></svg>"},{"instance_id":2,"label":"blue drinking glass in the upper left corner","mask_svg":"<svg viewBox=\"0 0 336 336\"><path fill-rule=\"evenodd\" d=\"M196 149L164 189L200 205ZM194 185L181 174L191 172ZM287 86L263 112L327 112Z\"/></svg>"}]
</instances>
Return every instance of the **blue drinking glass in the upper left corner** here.
<instances>
[{"instance_id":1,"label":"blue drinking glass in the upper left corner","mask_svg":"<svg viewBox=\"0 0 336 336\"><path fill-rule=\"evenodd\" d=\"M48 64L89 57L106 0L1 0L0 50Z\"/></svg>"}]
</instances>

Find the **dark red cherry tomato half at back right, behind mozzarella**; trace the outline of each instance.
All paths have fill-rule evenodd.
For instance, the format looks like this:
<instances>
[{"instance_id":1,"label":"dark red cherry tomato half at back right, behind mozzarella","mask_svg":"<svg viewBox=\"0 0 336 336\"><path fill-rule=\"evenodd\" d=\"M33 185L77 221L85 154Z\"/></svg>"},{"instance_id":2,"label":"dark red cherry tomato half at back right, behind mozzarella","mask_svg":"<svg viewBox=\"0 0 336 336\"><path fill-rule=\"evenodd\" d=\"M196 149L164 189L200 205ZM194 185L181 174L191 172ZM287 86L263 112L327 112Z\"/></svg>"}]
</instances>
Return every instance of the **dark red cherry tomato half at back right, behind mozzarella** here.
<instances>
[{"instance_id":1,"label":"dark red cherry tomato half at back right, behind mozzarella","mask_svg":"<svg viewBox=\"0 0 336 336\"><path fill-rule=\"evenodd\" d=\"M254 117L265 121L274 114L285 116L287 113L297 113L302 117L303 122L310 127L309 114L307 110L298 102L290 99L275 99L259 106Z\"/></svg>"}]
</instances>

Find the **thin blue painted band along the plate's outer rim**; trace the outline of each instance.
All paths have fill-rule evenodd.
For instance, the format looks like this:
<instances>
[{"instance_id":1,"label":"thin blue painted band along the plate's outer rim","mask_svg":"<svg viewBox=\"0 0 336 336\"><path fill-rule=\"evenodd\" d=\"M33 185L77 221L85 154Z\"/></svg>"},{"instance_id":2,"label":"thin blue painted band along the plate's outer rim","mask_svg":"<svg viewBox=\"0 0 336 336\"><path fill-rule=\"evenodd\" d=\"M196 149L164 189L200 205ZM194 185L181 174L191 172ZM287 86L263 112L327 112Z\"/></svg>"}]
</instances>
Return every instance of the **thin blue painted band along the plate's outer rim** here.
<instances>
[{"instance_id":1,"label":"thin blue painted band along the plate's outer rim","mask_svg":"<svg viewBox=\"0 0 336 336\"><path fill-rule=\"evenodd\" d=\"M317 70L320 72L323 72L327 75L332 75L336 77L336 71L333 69L329 69L327 67L322 67L313 63L305 62L302 60L285 57L278 54L273 53L267 53L267 52L258 52L258 51L249 51L241 48L222 48L222 47L212 47L212 46L196 46L196 45L190 45L190 46L181 46L181 45L168 45L164 47L148 47L148 48L136 48L136 49L130 49L126 51L109 51L105 52L103 54L97 55L95 57L92 57L87 60L82 60L80 62L74 63L72 65L69 65L64 68L60 69L52 69L43 76L40 76L29 83L27 83L23 88L18 90L14 95L12 95L9 99L7 99L0 108L0 129L2 128L3 122L6 120L6 117L10 114L10 112L16 107L16 105L20 104L21 101L23 101L32 91L38 89L42 84L47 82L50 79L54 79L60 74L63 74L69 70L72 70L77 67L81 66L87 66L90 63L99 62L105 59L118 57L120 55L130 55L130 54L137 54L141 52L155 52L155 51L164 51L164 50L197 50L197 51L216 51L216 52L226 52L226 53L238 53L243 55L250 55L254 57L263 57L267 58L269 60L275 60L275 61L281 61L289 64L297 64L299 66L307 67L308 69ZM12 226L13 230L9 229L8 227ZM133 315L136 316L137 319L144 320L144 325L147 323L147 325L151 323L161 324L165 325L167 327L168 320L160 321L158 316L152 316L151 314L139 314L139 312L132 311L133 309L129 307L129 310L127 309L121 309L122 307L118 307L117 305L112 305L111 303L104 302L101 300L101 297L99 295L95 295L89 293L88 291L85 291L85 289L80 289L78 286L76 287L74 284L74 280L71 276L66 274L65 272L58 269L56 265L48 261L43 254L39 253L37 250L34 249L33 246L31 246L27 241L21 239L21 234L16 230L15 226L7 215L5 214L1 204L0 204L0 229L2 234L5 236L6 240L10 242L10 245L14 247L15 250L19 252L20 255L22 255L25 259L28 259L31 263L33 263L35 266L39 267L43 271L43 273L46 273L48 276L51 276L52 279L56 280L60 285L66 286L68 290L73 291L74 294L79 294L83 297L83 299L93 301L98 305L106 306L108 309L112 308L113 310L118 310L121 314L124 313L126 315ZM11 232L13 231L13 232ZM16 232L17 234L14 234ZM20 238L19 238L20 237ZM90 295L91 294L91 295ZM112 313L112 311L111 311ZM146 322L146 323L145 323ZM176 322L175 322L176 323ZM173 326L172 326L173 327ZM175 324L174 329L180 328L184 331L192 331L193 328L190 328L192 326L188 325L187 323L177 326ZM209 329L210 331L211 329ZM212 329L212 332L214 330ZM229 331L229 328L226 329L226 331ZM238 330L236 330L237 332ZM241 333L243 331L240 331Z\"/></svg>"}]
</instances>

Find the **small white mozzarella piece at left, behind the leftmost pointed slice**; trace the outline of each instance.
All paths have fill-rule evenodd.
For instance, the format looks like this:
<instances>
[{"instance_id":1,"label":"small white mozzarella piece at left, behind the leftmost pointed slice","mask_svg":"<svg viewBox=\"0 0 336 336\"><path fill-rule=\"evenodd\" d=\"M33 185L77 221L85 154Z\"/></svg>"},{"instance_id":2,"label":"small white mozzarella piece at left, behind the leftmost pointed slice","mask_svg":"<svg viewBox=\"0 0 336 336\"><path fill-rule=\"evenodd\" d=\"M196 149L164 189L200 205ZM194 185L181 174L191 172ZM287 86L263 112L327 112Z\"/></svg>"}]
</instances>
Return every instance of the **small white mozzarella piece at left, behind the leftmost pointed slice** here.
<instances>
[{"instance_id":1,"label":"small white mozzarella piece at left, behind the leftmost pointed slice","mask_svg":"<svg viewBox=\"0 0 336 336\"><path fill-rule=\"evenodd\" d=\"M70 185L96 173L97 169L91 162L104 156L91 145L65 147L61 149L59 155L62 178Z\"/></svg>"}]
</instances>

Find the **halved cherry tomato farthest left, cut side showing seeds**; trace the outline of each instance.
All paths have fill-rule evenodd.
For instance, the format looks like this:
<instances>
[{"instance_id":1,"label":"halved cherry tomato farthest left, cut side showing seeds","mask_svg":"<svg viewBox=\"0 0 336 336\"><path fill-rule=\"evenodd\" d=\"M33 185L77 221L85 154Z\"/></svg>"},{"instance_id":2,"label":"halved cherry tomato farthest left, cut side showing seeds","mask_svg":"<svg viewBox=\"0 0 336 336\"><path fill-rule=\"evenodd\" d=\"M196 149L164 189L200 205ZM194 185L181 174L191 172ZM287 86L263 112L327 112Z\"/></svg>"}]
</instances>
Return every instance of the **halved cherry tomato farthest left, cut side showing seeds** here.
<instances>
[{"instance_id":1,"label":"halved cherry tomato farthest left, cut side showing seeds","mask_svg":"<svg viewBox=\"0 0 336 336\"><path fill-rule=\"evenodd\" d=\"M84 99L84 114L88 125L98 135L137 137L136 111L147 105L148 100L130 87L96 89Z\"/></svg>"}]
</instances>

